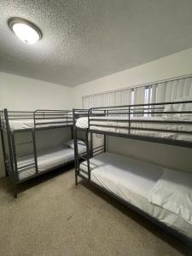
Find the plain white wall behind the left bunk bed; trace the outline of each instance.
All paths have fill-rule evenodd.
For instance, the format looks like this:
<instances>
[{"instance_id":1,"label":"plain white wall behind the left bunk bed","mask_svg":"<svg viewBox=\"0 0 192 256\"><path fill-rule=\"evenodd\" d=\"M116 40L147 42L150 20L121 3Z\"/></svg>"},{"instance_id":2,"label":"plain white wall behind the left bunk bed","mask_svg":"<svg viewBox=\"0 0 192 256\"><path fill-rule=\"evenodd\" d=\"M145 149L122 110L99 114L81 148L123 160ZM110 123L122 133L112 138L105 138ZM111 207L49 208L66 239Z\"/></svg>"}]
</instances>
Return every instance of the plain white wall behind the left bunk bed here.
<instances>
[{"instance_id":1,"label":"plain white wall behind the left bunk bed","mask_svg":"<svg viewBox=\"0 0 192 256\"><path fill-rule=\"evenodd\" d=\"M58 84L0 73L0 109L71 109L70 90L69 87ZM50 132L49 137L51 137ZM52 134L52 137L54 136L55 141L58 141L56 136L59 135L61 136L61 131ZM3 152L0 145L0 177L3 175Z\"/></svg>"}]
</instances>

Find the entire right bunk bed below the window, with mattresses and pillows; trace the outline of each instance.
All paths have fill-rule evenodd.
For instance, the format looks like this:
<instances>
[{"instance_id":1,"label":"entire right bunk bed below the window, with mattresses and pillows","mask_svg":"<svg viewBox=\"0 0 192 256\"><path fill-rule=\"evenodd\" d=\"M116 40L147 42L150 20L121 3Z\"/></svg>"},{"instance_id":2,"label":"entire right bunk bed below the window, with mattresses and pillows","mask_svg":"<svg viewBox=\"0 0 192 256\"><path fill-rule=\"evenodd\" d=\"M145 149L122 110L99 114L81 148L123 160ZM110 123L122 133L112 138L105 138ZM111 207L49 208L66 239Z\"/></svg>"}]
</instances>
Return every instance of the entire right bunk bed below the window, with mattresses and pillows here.
<instances>
[{"instance_id":1,"label":"entire right bunk bed below the window, with mattresses and pillows","mask_svg":"<svg viewBox=\"0 0 192 256\"><path fill-rule=\"evenodd\" d=\"M79 114L80 113L80 114ZM192 173L107 152L107 136L192 148L192 100L73 109L75 182L89 182L184 241L192 242ZM79 131L87 154L78 153ZM94 145L93 134L102 134Z\"/></svg>"}]
</instances>

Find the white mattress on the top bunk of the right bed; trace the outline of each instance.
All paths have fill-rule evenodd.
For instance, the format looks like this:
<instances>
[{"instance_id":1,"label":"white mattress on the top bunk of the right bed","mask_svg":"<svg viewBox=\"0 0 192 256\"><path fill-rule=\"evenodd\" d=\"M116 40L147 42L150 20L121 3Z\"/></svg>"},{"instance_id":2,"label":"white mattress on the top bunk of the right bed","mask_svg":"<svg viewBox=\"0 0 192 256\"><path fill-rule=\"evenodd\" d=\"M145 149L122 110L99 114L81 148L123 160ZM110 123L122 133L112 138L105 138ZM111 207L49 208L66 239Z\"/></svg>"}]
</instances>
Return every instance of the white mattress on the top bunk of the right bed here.
<instances>
[{"instance_id":1,"label":"white mattress on the top bunk of the right bed","mask_svg":"<svg viewBox=\"0 0 192 256\"><path fill-rule=\"evenodd\" d=\"M98 119L102 120L92 120L90 128L96 131L109 131L114 133L122 133L128 134L128 129L124 129L124 127L129 127L128 117L127 116L109 116L109 117L97 117ZM90 118L91 119L91 118ZM96 117L92 118L96 119ZM108 120L110 119L110 120ZM136 122L136 120L140 120L141 122ZM117 121L118 120L118 121ZM123 122L123 120L127 120L127 122ZM135 120L135 122L134 122ZM192 131L192 125L189 124L168 124L168 123L149 123L147 121L150 120L157 120L157 121L167 121L167 120L174 120L174 119L165 119L163 117L131 117L131 127L132 128L148 128L148 129L161 129L161 130L173 130L173 131ZM182 121L189 121L189 118L181 118L177 120ZM192 119L190 119L192 121ZM146 121L146 122L142 122ZM113 127L103 127L103 126L96 126L96 125L110 125L110 126L121 126L121 128L113 128ZM76 126L79 128L88 128L88 118L83 117L77 119ZM148 137L163 137L163 138L170 138L170 139L177 139L183 141L192 141L192 135L189 134L176 134L175 132L165 132L165 131L141 131L141 130L133 130L131 129L131 135L139 135L139 136L148 136Z\"/></svg>"}]
</instances>

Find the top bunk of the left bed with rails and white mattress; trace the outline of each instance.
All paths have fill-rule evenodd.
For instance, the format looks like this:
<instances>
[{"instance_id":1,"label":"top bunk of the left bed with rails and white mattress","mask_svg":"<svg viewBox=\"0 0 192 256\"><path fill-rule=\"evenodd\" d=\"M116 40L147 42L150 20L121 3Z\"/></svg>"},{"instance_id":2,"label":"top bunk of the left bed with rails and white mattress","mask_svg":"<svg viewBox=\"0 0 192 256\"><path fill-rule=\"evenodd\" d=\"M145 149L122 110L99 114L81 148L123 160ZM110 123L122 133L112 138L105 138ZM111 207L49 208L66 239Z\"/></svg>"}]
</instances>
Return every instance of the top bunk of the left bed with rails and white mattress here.
<instances>
[{"instance_id":1,"label":"top bunk of the left bed with rails and white mattress","mask_svg":"<svg viewBox=\"0 0 192 256\"><path fill-rule=\"evenodd\" d=\"M30 131L70 127L73 125L71 110L0 111L0 128L7 131Z\"/></svg>"}]
</instances>

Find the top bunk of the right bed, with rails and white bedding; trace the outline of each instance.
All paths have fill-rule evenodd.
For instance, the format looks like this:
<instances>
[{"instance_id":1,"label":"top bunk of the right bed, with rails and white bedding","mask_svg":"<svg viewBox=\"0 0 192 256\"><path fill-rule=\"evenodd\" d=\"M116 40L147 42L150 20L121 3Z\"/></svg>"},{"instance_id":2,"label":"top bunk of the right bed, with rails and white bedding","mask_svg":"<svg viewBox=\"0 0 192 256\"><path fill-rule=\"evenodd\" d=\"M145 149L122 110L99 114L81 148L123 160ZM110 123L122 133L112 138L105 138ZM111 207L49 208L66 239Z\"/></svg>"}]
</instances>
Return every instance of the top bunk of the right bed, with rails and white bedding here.
<instances>
[{"instance_id":1,"label":"top bunk of the right bed, with rails and white bedding","mask_svg":"<svg viewBox=\"0 0 192 256\"><path fill-rule=\"evenodd\" d=\"M73 109L73 119L93 133L192 148L192 99Z\"/></svg>"}]
</instances>

